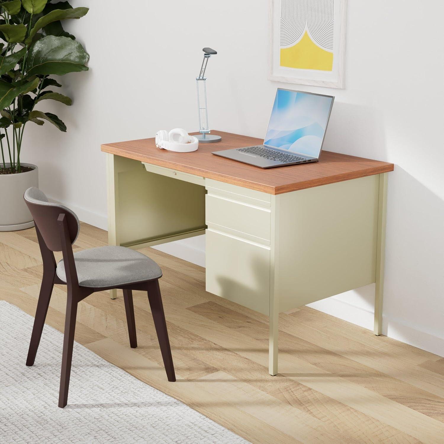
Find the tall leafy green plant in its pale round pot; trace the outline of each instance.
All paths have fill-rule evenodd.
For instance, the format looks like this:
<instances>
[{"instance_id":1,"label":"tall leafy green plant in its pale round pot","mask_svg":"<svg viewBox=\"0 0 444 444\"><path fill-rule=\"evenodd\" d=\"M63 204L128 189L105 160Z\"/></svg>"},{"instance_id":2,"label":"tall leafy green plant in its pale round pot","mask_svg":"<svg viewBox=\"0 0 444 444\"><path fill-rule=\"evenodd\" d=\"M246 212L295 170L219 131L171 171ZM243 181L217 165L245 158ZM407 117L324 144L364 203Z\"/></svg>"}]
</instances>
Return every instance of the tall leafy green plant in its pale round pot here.
<instances>
[{"instance_id":1,"label":"tall leafy green plant in its pale round pot","mask_svg":"<svg viewBox=\"0 0 444 444\"><path fill-rule=\"evenodd\" d=\"M33 226L23 200L30 186L38 186L36 165L22 163L24 129L52 123L66 126L56 115L38 110L42 100L71 105L50 75L87 71L89 55L62 20L79 19L88 8L72 8L67 1L0 0L0 231Z\"/></svg>"}]
</instances>

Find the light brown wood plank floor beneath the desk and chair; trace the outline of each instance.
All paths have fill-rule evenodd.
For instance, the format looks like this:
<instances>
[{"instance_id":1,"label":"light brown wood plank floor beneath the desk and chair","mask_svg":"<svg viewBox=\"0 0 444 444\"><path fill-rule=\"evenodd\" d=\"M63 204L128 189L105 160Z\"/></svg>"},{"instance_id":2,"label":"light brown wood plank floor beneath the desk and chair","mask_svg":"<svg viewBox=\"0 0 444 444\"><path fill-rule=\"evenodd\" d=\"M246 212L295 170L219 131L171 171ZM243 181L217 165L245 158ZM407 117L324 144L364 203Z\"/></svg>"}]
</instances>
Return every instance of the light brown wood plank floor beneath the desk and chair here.
<instances>
[{"instance_id":1,"label":"light brown wood plank floor beneath the desk and chair","mask_svg":"<svg viewBox=\"0 0 444 444\"><path fill-rule=\"evenodd\" d=\"M106 242L82 223L75 250ZM137 349L121 293L82 301L75 339L88 349L254 443L444 443L444 358L303 307L280 315L269 376L266 316L206 293L203 268L140 251L163 270L177 382L166 380L146 293L134 292ZM35 230L0 233L0 299L34 315L41 274ZM60 331L65 305L57 286L47 323Z\"/></svg>"}]
</instances>

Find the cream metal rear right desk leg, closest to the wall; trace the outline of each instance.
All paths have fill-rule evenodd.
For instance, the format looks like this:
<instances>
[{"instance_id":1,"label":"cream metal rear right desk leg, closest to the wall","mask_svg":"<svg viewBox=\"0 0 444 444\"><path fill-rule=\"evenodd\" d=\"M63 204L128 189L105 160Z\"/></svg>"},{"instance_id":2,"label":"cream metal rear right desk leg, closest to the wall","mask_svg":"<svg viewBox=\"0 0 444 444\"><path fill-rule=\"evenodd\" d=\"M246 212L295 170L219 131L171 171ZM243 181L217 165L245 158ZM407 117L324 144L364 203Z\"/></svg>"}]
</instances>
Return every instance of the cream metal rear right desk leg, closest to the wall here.
<instances>
[{"instance_id":1,"label":"cream metal rear right desk leg, closest to the wall","mask_svg":"<svg viewBox=\"0 0 444 444\"><path fill-rule=\"evenodd\" d=\"M387 173L379 175L378 238L376 247L376 289L374 333L382 332L382 296L384 292L385 218L387 210Z\"/></svg>"}]
</instances>

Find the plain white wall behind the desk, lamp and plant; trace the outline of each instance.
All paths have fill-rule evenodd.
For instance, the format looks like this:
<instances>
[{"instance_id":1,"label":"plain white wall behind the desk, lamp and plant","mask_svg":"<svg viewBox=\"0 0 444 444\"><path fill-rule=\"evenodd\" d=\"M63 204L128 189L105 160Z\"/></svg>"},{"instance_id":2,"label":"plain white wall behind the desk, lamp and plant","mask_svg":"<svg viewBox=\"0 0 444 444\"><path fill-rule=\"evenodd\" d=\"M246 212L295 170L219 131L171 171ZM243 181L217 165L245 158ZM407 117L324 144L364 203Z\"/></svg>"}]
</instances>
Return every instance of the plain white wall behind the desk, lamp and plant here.
<instances>
[{"instance_id":1,"label":"plain white wall behind the desk, lamp and plant","mask_svg":"<svg viewBox=\"0 0 444 444\"><path fill-rule=\"evenodd\" d=\"M39 165L45 192L106 226L100 143L152 137L161 128L196 130L194 78L204 46L218 51L207 70L213 128L263 137L277 87L333 94L325 149L396 164L384 333L444 356L442 2L350 0L344 90L267 80L267 0L71 4L91 8L67 26L85 42L90 71L62 79L71 108L44 102L68 133L46 123L24 139L23 161ZM197 242L182 244L182 257L191 245L198 261ZM312 306L371 328L373 287Z\"/></svg>"}]
</instances>

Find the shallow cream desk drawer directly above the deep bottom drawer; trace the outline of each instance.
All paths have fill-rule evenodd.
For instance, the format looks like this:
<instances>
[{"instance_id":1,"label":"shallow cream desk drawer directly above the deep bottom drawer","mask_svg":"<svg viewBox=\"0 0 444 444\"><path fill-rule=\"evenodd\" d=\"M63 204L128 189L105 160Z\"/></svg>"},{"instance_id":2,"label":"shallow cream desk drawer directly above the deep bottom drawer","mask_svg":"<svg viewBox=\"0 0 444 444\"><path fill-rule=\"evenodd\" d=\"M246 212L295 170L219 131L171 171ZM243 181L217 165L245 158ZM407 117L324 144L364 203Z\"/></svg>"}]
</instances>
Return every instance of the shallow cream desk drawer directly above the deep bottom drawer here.
<instances>
[{"instance_id":1,"label":"shallow cream desk drawer directly above the deep bottom drawer","mask_svg":"<svg viewBox=\"0 0 444 444\"><path fill-rule=\"evenodd\" d=\"M270 241L270 208L210 194L205 197L206 224L225 226Z\"/></svg>"}]
</instances>

